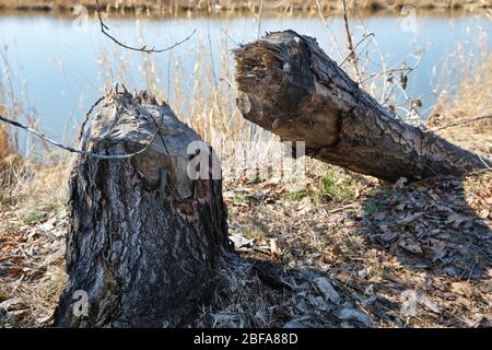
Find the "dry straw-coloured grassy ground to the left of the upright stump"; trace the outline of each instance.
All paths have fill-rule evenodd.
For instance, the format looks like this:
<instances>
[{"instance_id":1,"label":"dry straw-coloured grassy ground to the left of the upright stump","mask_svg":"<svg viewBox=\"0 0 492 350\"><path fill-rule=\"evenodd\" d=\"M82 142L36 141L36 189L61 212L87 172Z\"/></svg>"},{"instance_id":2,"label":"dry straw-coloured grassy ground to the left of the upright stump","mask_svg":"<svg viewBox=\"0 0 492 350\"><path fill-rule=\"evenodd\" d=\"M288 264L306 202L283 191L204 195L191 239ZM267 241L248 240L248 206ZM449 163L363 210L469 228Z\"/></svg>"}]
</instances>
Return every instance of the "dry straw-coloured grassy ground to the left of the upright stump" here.
<instances>
[{"instance_id":1,"label":"dry straw-coloured grassy ground to the left of the upright stump","mask_svg":"<svg viewBox=\"0 0 492 350\"><path fill-rule=\"evenodd\" d=\"M70 164L23 164L0 203L0 327L49 324L65 282Z\"/></svg>"}]
</instances>

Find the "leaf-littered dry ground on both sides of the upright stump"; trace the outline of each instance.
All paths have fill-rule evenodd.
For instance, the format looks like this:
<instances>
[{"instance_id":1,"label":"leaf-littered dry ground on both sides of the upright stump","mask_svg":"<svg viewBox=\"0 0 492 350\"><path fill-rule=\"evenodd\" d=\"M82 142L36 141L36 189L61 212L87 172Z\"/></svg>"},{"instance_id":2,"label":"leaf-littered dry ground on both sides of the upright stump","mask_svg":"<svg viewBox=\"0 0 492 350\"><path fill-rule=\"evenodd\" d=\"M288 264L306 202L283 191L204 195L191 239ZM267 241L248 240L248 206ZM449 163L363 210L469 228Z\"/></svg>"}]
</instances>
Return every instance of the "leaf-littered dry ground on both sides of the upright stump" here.
<instances>
[{"instance_id":1,"label":"leaf-littered dry ground on both sides of the upright stump","mask_svg":"<svg viewBox=\"0 0 492 350\"><path fill-rule=\"evenodd\" d=\"M312 168L312 167L309 167ZM395 185L318 164L306 190L224 188L238 258L196 327L490 327L492 174ZM329 171L356 188L325 196ZM259 194L259 195L258 195ZM50 325L67 213L0 210L0 326Z\"/></svg>"}]
</instances>

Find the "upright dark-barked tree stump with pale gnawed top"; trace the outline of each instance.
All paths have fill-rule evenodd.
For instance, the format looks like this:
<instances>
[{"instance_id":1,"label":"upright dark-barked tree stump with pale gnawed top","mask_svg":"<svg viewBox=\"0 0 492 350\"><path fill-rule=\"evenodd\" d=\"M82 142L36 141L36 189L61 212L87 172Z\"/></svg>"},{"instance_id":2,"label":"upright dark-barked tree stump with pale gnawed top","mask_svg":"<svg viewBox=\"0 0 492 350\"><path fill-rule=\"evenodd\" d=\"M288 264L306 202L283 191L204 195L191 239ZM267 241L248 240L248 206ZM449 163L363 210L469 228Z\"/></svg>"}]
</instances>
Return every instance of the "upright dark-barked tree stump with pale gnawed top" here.
<instances>
[{"instance_id":1,"label":"upright dark-barked tree stump with pale gnawed top","mask_svg":"<svg viewBox=\"0 0 492 350\"><path fill-rule=\"evenodd\" d=\"M54 326L179 326L220 287L216 271L232 254L226 208L220 179L188 176L194 141L200 137L145 93L106 95L84 150L137 154L77 162L68 282Z\"/></svg>"}]
</instances>

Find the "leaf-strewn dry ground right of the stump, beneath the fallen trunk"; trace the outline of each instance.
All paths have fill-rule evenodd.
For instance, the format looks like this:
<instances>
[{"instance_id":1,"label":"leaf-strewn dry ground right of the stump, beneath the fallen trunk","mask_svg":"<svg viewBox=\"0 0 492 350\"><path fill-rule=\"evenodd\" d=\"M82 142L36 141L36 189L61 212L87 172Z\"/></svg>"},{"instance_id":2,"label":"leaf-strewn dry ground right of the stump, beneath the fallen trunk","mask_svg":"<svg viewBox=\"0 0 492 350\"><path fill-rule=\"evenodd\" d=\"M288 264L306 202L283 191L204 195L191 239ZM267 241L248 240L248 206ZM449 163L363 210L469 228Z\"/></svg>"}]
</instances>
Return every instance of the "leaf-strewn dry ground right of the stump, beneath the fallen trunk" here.
<instances>
[{"instance_id":1,"label":"leaf-strewn dry ground right of the stump, beneath the fallen trunk","mask_svg":"<svg viewBox=\"0 0 492 350\"><path fill-rule=\"evenodd\" d=\"M229 289L203 306L196 325L490 325L491 174L382 186L329 168L336 178L352 176L358 188L350 203L338 203L318 185L326 171L311 177L321 200L286 199L282 183L230 184L231 234L251 243L238 249L246 262L224 272ZM339 300L323 292L319 278ZM414 314L402 312L409 295L418 301Z\"/></svg>"}]
</instances>

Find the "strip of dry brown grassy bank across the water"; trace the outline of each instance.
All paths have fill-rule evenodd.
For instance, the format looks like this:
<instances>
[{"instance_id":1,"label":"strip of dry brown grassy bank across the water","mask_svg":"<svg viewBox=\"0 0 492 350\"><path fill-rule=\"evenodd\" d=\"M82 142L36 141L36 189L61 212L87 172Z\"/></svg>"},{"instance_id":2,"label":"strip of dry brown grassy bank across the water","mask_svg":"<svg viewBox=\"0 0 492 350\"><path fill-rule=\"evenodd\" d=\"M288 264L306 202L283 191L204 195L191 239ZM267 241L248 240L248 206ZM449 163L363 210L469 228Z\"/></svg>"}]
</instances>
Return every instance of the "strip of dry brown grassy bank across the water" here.
<instances>
[{"instance_id":1,"label":"strip of dry brown grassy bank across the water","mask_svg":"<svg viewBox=\"0 0 492 350\"><path fill-rule=\"evenodd\" d=\"M201 10L207 12L220 11L257 11L260 1L246 0L101 0L101 5L107 10L149 10L174 12L180 10ZM95 9L95 0L0 0L0 9L16 10L61 10L73 9L81 4L87 9ZM324 11L341 11L342 1L320 0ZM382 10L401 9L412 5L419 9L477 9L491 8L487 0L348 0L349 10ZM265 0L265 11L317 10L316 0Z\"/></svg>"}]
</instances>

